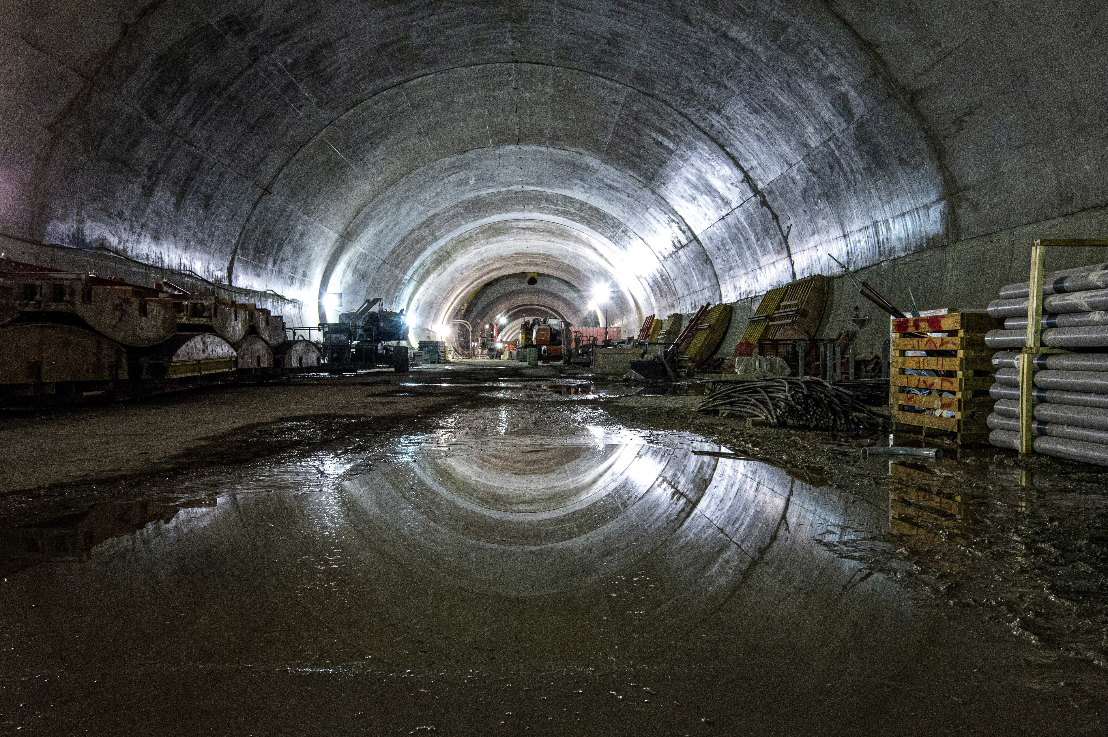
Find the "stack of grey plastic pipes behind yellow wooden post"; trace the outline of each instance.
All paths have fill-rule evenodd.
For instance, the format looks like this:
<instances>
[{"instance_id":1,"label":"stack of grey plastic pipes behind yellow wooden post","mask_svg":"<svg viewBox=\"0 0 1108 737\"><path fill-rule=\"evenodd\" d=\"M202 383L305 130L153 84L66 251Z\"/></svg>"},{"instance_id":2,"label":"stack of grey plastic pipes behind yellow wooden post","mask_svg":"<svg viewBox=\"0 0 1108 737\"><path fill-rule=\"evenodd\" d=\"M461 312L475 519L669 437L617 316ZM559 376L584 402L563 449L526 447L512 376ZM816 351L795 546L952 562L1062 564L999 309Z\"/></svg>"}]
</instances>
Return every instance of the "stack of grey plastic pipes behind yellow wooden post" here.
<instances>
[{"instance_id":1,"label":"stack of grey plastic pipes behind yellow wooden post","mask_svg":"<svg viewBox=\"0 0 1108 737\"><path fill-rule=\"evenodd\" d=\"M988 305L1004 318L985 344L1018 349L1027 340L1028 284L1008 284ZM1032 433L1036 453L1108 466L1108 263L1046 274L1043 293L1043 345L1076 353L1034 356ZM1101 353L1092 353L1097 349ZM996 405L988 416L989 442L1019 447L1018 353L993 355Z\"/></svg>"}]
</instances>

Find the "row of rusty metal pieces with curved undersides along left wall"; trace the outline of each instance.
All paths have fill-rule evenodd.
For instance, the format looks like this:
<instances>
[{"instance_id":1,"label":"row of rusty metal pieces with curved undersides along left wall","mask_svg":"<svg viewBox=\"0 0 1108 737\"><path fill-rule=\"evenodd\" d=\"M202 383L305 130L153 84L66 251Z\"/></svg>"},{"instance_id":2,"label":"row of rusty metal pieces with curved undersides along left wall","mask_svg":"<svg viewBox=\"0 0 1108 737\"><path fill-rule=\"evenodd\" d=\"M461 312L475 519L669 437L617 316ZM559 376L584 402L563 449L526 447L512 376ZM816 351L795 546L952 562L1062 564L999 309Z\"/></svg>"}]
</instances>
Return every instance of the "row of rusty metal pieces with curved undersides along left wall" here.
<instances>
[{"instance_id":1,"label":"row of rusty metal pieces with curved undersides along left wall","mask_svg":"<svg viewBox=\"0 0 1108 737\"><path fill-rule=\"evenodd\" d=\"M285 332L254 304L0 258L3 402L267 381L320 363L315 343Z\"/></svg>"}]
</instances>

